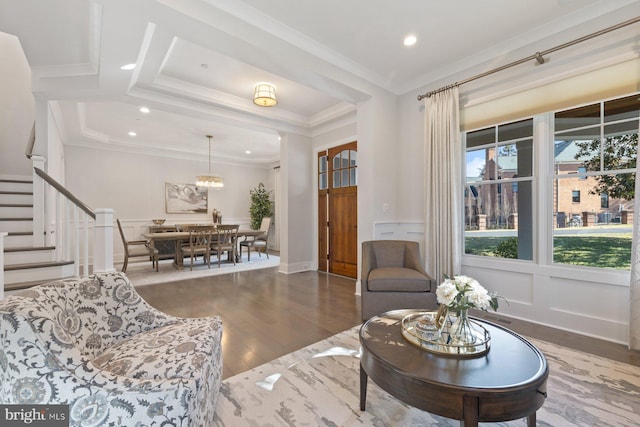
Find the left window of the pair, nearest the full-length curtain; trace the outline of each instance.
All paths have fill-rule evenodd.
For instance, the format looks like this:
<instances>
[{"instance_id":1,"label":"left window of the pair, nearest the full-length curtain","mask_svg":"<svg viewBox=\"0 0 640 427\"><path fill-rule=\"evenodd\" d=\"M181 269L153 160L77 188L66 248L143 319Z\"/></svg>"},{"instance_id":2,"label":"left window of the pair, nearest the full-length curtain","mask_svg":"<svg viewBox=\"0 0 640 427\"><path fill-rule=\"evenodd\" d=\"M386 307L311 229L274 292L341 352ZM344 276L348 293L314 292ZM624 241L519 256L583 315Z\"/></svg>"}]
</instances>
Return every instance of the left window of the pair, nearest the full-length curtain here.
<instances>
[{"instance_id":1,"label":"left window of the pair, nearest the full-length curtain","mask_svg":"<svg viewBox=\"0 0 640 427\"><path fill-rule=\"evenodd\" d=\"M532 260L533 119L465 141L465 253Z\"/></svg>"}]
</instances>

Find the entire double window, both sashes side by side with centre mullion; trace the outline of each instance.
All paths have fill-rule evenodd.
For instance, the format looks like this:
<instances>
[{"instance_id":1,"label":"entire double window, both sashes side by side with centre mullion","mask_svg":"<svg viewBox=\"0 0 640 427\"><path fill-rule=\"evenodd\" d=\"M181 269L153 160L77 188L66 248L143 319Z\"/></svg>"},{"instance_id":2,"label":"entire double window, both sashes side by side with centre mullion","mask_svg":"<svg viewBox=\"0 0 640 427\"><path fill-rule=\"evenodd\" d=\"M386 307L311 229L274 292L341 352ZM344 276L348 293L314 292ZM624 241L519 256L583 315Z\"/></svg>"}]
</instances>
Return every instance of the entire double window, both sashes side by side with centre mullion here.
<instances>
[{"instance_id":1,"label":"entire double window, both sashes side by side with centre mullion","mask_svg":"<svg viewBox=\"0 0 640 427\"><path fill-rule=\"evenodd\" d=\"M464 134L465 255L629 269L640 95L533 120Z\"/></svg>"}]
</instances>

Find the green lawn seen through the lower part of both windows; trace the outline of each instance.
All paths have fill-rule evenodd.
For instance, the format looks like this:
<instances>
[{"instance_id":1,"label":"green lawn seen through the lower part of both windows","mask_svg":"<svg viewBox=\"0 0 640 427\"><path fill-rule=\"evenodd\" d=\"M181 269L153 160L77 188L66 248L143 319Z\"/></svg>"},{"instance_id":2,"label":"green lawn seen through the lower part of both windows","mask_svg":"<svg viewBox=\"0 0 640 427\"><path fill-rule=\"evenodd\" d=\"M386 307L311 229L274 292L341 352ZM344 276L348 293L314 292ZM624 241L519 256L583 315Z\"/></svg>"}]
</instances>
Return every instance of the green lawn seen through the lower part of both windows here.
<instances>
[{"instance_id":1,"label":"green lawn seen through the lower part of both windows","mask_svg":"<svg viewBox=\"0 0 640 427\"><path fill-rule=\"evenodd\" d=\"M465 253L496 256L498 244L510 237L467 237ZM554 238L553 261L628 270L631 264L631 233L566 235Z\"/></svg>"}]
</instances>

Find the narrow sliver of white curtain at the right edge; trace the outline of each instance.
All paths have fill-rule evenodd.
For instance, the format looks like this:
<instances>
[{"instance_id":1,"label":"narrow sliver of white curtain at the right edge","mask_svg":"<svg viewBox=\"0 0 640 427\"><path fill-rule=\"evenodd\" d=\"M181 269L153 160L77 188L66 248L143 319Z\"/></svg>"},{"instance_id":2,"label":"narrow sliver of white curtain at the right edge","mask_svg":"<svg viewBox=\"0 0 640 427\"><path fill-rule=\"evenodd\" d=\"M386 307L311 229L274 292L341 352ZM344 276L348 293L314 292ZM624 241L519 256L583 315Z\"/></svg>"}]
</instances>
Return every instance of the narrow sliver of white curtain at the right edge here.
<instances>
[{"instance_id":1,"label":"narrow sliver of white curtain at the right edge","mask_svg":"<svg viewBox=\"0 0 640 427\"><path fill-rule=\"evenodd\" d=\"M636 163L636 170L637 167ZM636 172L634 198L631 284L629 285L629 301L631 301L629 306L629 348L640 350L640 174L638 172Z\"/></svg>"}]
</instances>

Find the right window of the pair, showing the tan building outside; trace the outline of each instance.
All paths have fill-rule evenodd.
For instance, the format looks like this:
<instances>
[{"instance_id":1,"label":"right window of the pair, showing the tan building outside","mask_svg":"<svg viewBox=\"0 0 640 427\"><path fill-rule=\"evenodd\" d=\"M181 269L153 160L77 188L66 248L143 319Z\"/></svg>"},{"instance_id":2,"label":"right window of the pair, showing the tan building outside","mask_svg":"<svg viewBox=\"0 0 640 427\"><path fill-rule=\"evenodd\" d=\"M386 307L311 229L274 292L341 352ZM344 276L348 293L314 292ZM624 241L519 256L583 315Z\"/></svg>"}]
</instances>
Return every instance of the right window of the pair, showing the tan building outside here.
<instances>
[{"instance_id":1,"label":"right window of the pair, showing the tan building outside","mask_svg":"<svg viewBox=\"0 0 640 427\"><path fill-rule=\"evenodd\" d=\"M554 263L629 268L639 108L633 95L555 113L554 216L570 220L555 223Z\"/></svg>"}]
</instances>

